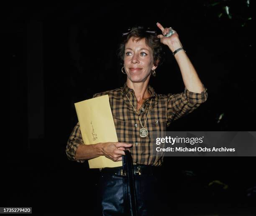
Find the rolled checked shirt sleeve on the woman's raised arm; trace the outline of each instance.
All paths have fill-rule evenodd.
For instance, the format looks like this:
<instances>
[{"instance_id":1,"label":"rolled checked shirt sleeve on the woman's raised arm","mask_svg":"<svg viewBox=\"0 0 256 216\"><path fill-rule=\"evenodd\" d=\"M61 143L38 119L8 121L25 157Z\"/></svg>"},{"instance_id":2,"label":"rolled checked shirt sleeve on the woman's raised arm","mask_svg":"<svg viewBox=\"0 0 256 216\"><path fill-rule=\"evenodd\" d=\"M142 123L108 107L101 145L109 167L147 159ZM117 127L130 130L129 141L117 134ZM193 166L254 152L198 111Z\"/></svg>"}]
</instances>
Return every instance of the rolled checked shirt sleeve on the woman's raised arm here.
<instances>
[{"instance_id":1,"label":"rolled checked shirt sleeve on the woman's raised arm","mask_svg":"<svg viewBox=\"0 0 256 216\"><path fill-rule=\"evenodd\" d=\"M185 87L184 92L182 93L168 94L167 126L169 126L172 121L175 121L178 118L191 113L206 100L207 88L205 88L205 86L201 93L191 92Z\"/></svg>"}]
</instances>

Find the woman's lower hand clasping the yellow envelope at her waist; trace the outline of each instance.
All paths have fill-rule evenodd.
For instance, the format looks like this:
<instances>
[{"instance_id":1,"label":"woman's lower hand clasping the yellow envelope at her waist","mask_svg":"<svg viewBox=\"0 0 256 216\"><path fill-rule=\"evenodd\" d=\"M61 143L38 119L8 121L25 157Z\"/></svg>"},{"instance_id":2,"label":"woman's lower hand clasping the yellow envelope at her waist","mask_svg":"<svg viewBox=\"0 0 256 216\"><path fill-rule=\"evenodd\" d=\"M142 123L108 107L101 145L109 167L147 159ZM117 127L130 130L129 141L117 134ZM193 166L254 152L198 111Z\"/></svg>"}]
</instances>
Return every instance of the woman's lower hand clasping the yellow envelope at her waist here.
<instances>
[{"instance_id":1,"label":"woman's lower hand clasping the yellow envelope at her waist","mask_svg":"<svg viewBox=\"0 0 256 216\"><path fill-rule=\"evenodd\" d=\"M133 146L132 144L119 142L108 142L101 144L103 155L111 159L112 161L122 161L122 155L125 155L124 150L126 150L126 148ZM130 150L128 149L128 151Z\"/></svg>"}]
</instances>

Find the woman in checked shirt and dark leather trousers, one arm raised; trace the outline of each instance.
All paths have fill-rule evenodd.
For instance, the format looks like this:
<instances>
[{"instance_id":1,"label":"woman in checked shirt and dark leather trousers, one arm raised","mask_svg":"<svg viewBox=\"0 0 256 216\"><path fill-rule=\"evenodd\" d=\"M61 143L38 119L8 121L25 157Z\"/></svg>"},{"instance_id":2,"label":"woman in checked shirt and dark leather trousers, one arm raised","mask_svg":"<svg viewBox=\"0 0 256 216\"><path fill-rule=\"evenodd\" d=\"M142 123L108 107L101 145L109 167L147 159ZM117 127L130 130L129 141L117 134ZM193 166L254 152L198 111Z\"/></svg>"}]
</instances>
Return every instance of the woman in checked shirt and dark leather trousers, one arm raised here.
<instances>
[{"instance_id":1,"label":"woman in checked shirt and dark leather trousers, one arm raised","mask_svg":"<svg viewBox=\"0 0 256 216\"><path fill-rule=\"evenodd\" d=\"M153 131L165 131L166 125L191 113L207 99L206 88L182 48L177 32L172 28L164 28L160 23L156 25L162 32L157 36L155 32L141 27L134 27L123 34L124 40L118 53L123 63L122 73L127 75L127 81L122 88L94 95L109 95L119 142L82 145L77 123L66 150L70 160L84 162L101 155L113 161L121 161L125 155L124 150L129 149L135 170L139 215L154 215L154 210L157 213L159 208L156 205L158 198L154 184L163 157L150 153L151 134ZM162 63L163 45L169 47L177 60L185 85L183 93L160 95L148 85L151 75L156 75L155 70ZM101 173L101 214L128 212L125 193L123 190L120 192L124 185L117 185L120 181L115 181L115 177L124 176L120 168L103 168Z\"/></svg>"}]
</instances>

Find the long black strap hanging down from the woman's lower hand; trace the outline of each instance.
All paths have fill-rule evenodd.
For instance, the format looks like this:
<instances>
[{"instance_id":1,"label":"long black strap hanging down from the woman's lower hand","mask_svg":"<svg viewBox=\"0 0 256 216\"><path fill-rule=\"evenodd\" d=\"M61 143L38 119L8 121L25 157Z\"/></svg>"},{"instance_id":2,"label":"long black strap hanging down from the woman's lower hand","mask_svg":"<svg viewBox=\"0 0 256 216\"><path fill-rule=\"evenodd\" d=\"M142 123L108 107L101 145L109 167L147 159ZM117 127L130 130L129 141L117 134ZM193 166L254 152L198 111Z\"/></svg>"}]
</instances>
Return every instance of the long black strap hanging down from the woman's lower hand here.
<instances>
[{"instance_id":1,"label":"long black strap hanging down from the woman's lower hand","mask_svg":"<svg viewBox=\"0 0 256 216\"><path fill-rule=\"evenodd\" d=\"M127 173L128 177L128 201L131 209L131 216L137 216L137 202L136 202L136 190L135 181L133 176L133 158L131 152L124 150L125 156L122 157L123 171Z\"/></svg>"}]
</instances>

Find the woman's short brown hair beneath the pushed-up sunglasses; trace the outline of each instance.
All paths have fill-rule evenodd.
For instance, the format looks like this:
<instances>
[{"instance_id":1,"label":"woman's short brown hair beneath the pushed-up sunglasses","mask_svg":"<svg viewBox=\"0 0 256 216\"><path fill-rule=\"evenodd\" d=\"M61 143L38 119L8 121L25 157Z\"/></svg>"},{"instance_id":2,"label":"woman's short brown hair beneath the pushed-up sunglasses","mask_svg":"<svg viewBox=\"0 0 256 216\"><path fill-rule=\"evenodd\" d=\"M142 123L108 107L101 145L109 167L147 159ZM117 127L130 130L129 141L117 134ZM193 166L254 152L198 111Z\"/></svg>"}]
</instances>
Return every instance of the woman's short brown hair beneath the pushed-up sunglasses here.
<instances>
[{"instance_id":1,"label":"woman's short brown hair beneath the pushed-up sunglasses","mask_svg":"<svg viewBox=\"0 0 256 216\"><path fill-rule=\"evenodd\" d=\"M124 63L125 44L132 37L138 38L138 40L145 38L146 45L153 50L155 66L161 65L164 62L165 53L163 50L163 45L161 44L160 39L157 38L156 33L146 32L145 28L136 26L131 28L130 33L123 36L121 43L118 45L117 56L120 60L120 65L123 65Z\"/></svg>"}]
</instances>

